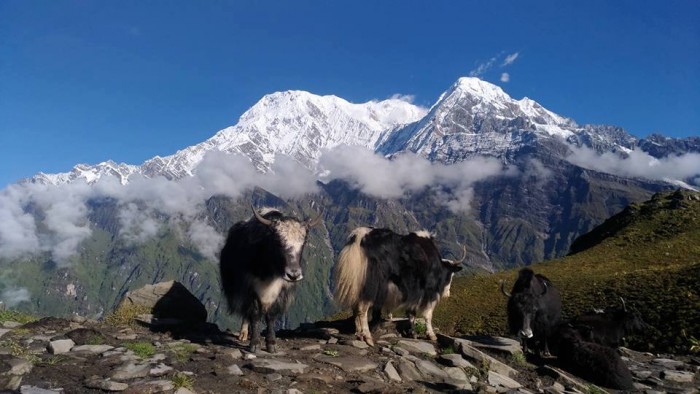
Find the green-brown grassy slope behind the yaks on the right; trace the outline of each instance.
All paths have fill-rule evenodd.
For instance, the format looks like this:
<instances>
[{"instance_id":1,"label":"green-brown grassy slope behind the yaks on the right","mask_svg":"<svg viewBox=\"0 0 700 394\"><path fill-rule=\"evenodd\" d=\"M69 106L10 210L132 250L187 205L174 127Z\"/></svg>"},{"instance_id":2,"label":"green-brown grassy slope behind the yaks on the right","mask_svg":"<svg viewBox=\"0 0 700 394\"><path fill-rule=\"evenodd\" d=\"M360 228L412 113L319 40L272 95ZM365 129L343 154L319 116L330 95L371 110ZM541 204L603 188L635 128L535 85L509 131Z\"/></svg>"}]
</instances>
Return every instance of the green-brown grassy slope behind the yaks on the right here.
<instances>
[{"instance_id":1,"label":"green-brown grassy slope behind the yaks on the right","mask_svg":"<svg viewBox=\"0 0 700 394\"><path fill-rule=\"evenodd\" d=\"M583 241L583 242L582 242ZM654 327L629 345L687 352L700 339L700 194L655 195L610 218L577 242L581 251L535 264L561 290L565 317L592 307L618 305L619 296ZM452 297L435 312L443 331L504 334L506 299L517 270L456 278Z\"/></svg>"}]
</instances>

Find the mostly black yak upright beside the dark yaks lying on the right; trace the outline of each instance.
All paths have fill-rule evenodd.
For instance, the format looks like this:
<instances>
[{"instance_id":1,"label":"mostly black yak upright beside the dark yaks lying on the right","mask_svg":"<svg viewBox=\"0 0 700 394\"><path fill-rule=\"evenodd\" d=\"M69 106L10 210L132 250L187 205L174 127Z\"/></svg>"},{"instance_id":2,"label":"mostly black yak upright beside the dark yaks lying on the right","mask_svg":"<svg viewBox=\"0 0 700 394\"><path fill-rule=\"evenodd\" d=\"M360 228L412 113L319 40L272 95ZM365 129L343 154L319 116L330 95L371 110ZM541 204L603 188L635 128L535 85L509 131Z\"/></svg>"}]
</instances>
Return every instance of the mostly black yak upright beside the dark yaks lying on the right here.
<instances>
[{"instance_id":1,"label":"mostly black yak upright beside the dark yaks lying on the right","mask_svg":"<svg viewBox=\"0 0 700 394\"><path fill-rule=\"evenodd\" d=\"M528 342L535 345L539 354L549 355L548 341L561 321L561 295L545 276L535 274L530 268L523 268L513 284L508 297L508 328L513 335L521 338L523 352L527 352Z\"/></svg>"}]
</instances>

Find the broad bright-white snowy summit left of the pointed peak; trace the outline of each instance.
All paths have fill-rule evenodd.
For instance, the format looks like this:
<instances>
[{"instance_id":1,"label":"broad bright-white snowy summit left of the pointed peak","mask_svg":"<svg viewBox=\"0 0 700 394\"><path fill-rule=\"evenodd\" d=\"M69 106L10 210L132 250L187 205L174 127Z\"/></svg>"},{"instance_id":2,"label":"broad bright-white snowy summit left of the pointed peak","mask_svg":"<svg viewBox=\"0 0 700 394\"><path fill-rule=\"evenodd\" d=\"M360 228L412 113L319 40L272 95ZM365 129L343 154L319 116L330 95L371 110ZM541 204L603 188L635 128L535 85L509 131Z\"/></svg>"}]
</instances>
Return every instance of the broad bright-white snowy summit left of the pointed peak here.
<instances>
[{"instance_id":1,"label":"broad bright-white snowy summit left of the pointed peak","mask_svg":"<svg viewBox=\"0 0 700 394\"><path fill-rule=\"evenodd\" d=\"M415 122L425 112L399 99L353 104L304 91L273 93L246 111L235 126L174 155L148 160L143 165L144 174L169 178L191 175L204 154L212 150L241 153L260 170L269 169L276 154L313 167L322 149L342 144L374 149L383 132Z\"/></svg>"}]
</instances>

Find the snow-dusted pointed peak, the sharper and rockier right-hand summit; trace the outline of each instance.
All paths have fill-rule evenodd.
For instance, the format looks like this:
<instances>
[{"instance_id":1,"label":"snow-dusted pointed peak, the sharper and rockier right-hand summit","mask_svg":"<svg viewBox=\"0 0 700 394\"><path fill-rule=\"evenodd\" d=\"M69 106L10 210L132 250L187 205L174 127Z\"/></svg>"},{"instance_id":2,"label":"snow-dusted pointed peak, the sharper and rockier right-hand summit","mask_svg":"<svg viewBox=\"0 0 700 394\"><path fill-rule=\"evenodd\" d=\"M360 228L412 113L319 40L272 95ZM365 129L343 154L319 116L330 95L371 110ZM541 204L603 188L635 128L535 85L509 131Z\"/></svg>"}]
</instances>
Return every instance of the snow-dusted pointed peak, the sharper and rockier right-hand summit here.
<instances>
[{"instance_id":1,"label":"snow-dusted pointed peak, the sharper and rockier right-hand summit","mask_svg":"<svg viewBox=\"0 0 700 394\"><path fill-rule=\"evenodd\" d=\"M417 124L384 139L385 154L410 150L431 160L455 162L474 154L507 156L535 138L569 138L578 126L478 78L460 78Z\"/></svg>"}]
</instances>

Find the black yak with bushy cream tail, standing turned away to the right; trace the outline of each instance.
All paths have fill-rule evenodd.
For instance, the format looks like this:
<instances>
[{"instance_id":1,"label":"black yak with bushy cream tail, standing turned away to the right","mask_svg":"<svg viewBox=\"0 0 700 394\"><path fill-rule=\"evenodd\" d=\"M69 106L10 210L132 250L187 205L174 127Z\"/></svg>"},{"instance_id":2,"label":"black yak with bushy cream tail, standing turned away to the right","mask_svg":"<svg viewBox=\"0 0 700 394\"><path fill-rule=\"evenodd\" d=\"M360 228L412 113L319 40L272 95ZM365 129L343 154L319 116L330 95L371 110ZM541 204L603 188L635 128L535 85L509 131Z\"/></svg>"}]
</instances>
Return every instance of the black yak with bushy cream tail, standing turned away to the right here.
<instances>
[{"instance_id":1,"label":"black yak with bushy cream tail, standing turned away to the right","mask_svg":"<svg viewBox=\"0 0 700 394\"><path fill-rule=\"evenodd\" d=\"M466 250L465 250L466 257ZM338 256L333 276L334 298L352 308L355 335L374 345L368 311L405 308L410 332L415 336L416 313L426 321L426 334L436 340L433 310L442 297L449 297L454 273L461 262L443 259L427 231L401 235L389 229L356 228Z\"/></svg>"}]
</instances>

